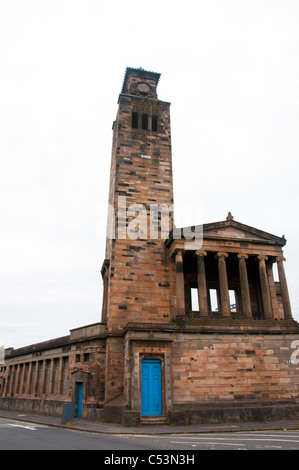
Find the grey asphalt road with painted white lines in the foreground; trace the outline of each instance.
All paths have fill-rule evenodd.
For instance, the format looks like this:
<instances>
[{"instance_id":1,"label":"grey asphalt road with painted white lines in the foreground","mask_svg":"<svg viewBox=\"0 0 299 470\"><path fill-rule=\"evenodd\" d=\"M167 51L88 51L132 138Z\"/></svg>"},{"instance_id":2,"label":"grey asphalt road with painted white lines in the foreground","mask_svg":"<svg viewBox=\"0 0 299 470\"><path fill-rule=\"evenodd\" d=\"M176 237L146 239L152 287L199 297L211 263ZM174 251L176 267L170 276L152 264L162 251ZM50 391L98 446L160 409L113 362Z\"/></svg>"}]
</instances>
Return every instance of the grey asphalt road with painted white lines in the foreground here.
<instances>
[{"instance_id":1,"label":"grey asphalt road with painted white lines in the foreground","mask_svg":"<svg viewBox=\"0 0 299 470\"><path fill-rule=\"evenodd\" d=\"M299 431L111 435L0 418L0 450L299 450Z\"/></svg>"}]
</instances>

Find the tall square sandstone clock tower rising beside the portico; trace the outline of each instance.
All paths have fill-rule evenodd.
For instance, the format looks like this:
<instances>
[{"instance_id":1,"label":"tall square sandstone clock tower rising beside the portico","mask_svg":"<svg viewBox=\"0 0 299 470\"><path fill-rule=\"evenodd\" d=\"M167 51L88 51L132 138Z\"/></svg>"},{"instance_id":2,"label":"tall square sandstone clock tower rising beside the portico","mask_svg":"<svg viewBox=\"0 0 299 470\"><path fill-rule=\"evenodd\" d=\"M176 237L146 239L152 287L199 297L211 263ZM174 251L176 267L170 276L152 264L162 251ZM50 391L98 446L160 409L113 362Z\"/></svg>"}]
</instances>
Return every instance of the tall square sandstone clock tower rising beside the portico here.
<instances>
[{"instance_id":1,"label":"tall square sandstone clock tower rising beside the portico","mask_svg":"<svg viewBox=\"0 0 299 470\"><path fill-rule=\"evenodd\" d=\"M130 322L171 321L164 250L173 218L170 103L157 97L159 78L158 73L127 68L113 123L102 268L102 321L108 332L106 399L122 391L123 358L117 351L122 349L124 327Z\"/></svg>"}]
</instances>

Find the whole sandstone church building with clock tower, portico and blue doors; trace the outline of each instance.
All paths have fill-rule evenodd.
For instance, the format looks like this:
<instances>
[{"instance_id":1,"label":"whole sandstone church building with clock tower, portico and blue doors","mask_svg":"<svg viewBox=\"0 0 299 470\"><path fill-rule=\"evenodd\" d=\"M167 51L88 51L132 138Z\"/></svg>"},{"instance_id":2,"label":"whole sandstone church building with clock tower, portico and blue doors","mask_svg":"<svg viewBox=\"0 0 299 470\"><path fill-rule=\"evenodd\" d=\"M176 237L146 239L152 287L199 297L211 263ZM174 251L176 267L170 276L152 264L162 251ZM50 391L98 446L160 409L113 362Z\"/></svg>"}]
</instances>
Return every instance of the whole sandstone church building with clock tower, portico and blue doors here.
<instances>
[{"instance_id":1,"label":"whole sandstone church building with clock tower, portico and blue doors","mask_svg":"<svg viewBox=\"0 0 299 470\"><path fill-rule=\"evenodd\" d=\"M124 425L298 418L286 239L231 213L174 225L159 79L127 68L118 99L101 321L6 349L0 409L59 416L71 402L77 418Z\"/></svg>"}]
</instances>

